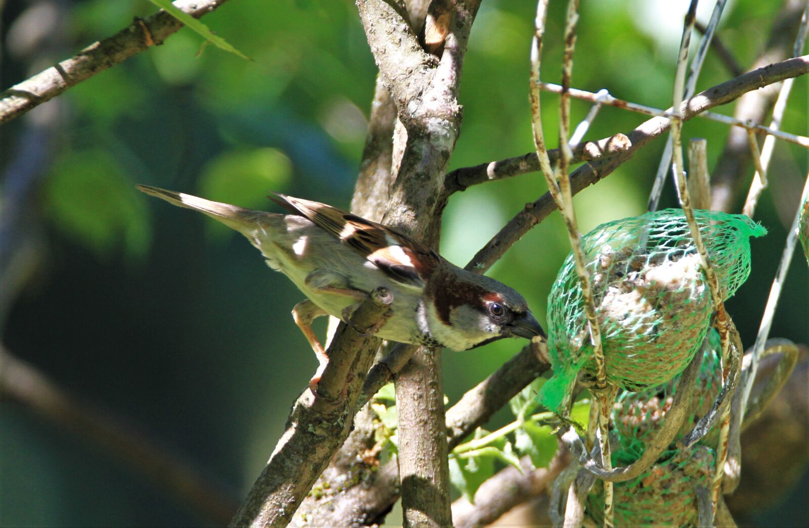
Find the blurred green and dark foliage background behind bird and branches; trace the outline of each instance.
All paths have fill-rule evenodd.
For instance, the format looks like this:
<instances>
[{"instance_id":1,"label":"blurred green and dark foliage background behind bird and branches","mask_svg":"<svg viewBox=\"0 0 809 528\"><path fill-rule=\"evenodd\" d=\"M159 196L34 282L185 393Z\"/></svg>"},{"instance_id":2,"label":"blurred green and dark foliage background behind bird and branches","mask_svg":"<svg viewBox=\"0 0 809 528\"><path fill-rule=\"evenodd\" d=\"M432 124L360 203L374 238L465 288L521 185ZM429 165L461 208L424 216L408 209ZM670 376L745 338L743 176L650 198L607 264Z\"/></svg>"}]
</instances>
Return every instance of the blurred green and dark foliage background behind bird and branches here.
<instances>
[{"instance_id":1,"label":"blurred green and dark foliage background behind bird and branches","mask_svg":"<svg viewBox=\"0 0 809 528\"><path fill-rule=\"evenodd\" d=\"M621 99L667 108L681 19L654 9L669 3L684 2L582 2L574 86L607 88ZM756 57L779 4L731 2L719 35L740 64ZM65 2L59 31L40 53L26 55L15 52L19 45L10 40L29 3L0 6L4 88L155 9L146 0ZM464 61L463 132L450 168L532 150L527 74L535 10L536 2L525 0L483 2ZM564 10L565 2L551 2L542 72L549 82L561 76ZM61 120L49 129L49 166L40 175L29 223L41 228L48 264L15 300L3 342L62 386L142 423L244 492L316 369L289 316L302 296L285 277L269 272L238 234L222 231L214 234L220 243L211 243L205 232L214 230L214 222L149 201L133 186L154 184L259 209L271 208L265 200L271 190L347 207L376 69L350 2L239 0L203 22L252 61L204 46L186 28L43 105L59 108ZM730 77L709 53L697 89ZM551 143L557 100L542 96ZM800 78L782 129L806 133L806 101L807 79ZM730 114L733 108L718 110ZM574 122L588 109L574 101ZM644 119L604 108L587 139L628 132ZM18 140L27 123L23 118L0 128L0 169L26 155ZM724 125L695 119L685 125L684 139L708 138L713 167L726 132ZM663 141L654 142L577 196L582 232L644 211L662 149ZM753 243L752 277L728 303L745 344L755 336L784 226L797 205L806 151L779 143L769 173L757 219L770 235ZM544 190L542 176L534 174L453 196L443 222L443 254L465 264ZM667 183L661 206L675 203ZM568 251L553 214L490 274L523 292L541 320ZM772 334L807 342L806 266L794 265L788 281ZM521 346L502 340L446 353L451 403ZM504 410L488 427L509 420ZM3 403L0 430L3 526L201 522L115 458L64 437L23 408ZM39 462L26 462L32 460Z\"/></svg>"}]
</instances>

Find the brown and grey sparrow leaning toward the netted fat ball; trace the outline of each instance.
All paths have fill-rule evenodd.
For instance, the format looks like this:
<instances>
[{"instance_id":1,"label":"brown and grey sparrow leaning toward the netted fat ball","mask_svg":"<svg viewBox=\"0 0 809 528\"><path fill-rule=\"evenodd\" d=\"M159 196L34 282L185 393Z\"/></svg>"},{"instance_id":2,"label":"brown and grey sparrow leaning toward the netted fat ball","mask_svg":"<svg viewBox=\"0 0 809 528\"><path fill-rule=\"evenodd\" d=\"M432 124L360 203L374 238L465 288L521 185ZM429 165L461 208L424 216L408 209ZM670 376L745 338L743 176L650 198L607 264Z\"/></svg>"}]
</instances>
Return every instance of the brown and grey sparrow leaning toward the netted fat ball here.
<instances>
[{"instance_id":1,"label":"brown and grey sparrow leaning toward the netted fat ball","mask_svg":"<svg viewBox=\"0 0 809 528\"><path fill-rule=\"evenodd\" d=\"M380 287L393 294L392 315L373 329L384 340L462 351L510 336L545 336L515 289L451 264L392 227L276 192L269 199L288 213L244 209L149 185L137 188L243 234L270 268L298 286L306 299L294 306L294 323L320 361L310 382L313 391L328 356L312 321L332 315L348 322Z\"/></svg>"}]
</instances>

